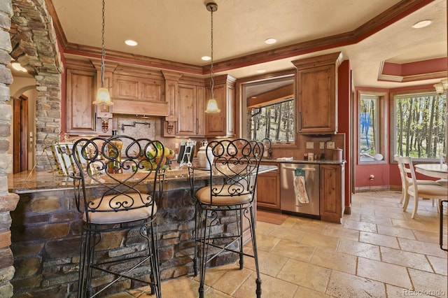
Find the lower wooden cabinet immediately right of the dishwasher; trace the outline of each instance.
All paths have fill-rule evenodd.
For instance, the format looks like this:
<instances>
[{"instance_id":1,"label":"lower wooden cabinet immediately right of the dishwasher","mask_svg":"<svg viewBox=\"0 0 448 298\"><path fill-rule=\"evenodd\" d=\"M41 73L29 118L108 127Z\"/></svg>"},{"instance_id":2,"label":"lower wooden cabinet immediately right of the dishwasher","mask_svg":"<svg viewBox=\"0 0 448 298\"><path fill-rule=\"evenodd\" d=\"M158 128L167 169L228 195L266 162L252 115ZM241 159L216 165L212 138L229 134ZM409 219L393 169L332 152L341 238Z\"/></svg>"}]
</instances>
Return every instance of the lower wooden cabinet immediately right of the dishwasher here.
<instances>
[{"instance_id":1,"label":"lower wooden cabinet immediately right of the dishwasher","mask_svg":"<svg viewBox=\"0 0 448 298\"><path fill-rule=\"evenodd\" d=\"M321 220L342 223L344 171L344 164L321 164Z\"/></svg>"}]
</instances>

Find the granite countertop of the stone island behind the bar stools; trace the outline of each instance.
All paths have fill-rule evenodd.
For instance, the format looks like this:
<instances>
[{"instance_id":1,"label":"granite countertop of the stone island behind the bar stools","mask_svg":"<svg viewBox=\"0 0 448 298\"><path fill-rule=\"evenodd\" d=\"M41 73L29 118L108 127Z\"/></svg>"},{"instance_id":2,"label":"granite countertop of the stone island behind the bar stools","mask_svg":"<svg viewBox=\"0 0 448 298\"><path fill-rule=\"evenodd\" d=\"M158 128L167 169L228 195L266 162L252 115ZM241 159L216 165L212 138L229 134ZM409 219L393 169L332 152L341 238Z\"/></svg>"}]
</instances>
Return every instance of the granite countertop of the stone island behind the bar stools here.
<instances>
[{"instance_id":1,"label":"granite countertop of the stone island behind the bar stools","mask_svg":"<svg viewBox=\"0 0 448 298\"><path fill-rule=\"evenodd\" d=\"M277 167L272 165L261 165L259 173L274 171ZM195 179L206 180L209 178L209 171L196 171ZM181 169L167 170L165 173L165 183L188 180L187 166ZM95 184L92 183L92 187ZM45 192L51 190L72 190L73 179L69 176L58 175L46 171L23 171L8 175L8 191L17 194L29 192Z\"/></svg>"}]
</instances>

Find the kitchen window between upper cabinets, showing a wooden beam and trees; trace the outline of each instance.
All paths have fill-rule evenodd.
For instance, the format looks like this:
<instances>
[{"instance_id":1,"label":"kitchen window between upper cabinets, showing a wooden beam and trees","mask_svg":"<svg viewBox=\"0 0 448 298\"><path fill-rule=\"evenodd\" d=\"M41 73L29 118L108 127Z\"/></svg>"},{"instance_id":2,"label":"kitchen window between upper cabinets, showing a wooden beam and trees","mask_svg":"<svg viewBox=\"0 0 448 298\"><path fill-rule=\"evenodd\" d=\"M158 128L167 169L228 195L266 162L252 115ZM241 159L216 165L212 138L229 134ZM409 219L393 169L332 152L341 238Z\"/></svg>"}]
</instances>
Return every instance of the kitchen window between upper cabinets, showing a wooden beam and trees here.
<instances>
[{"instance_id":1,"label":"kitchen window between upper cabinets, showing a wooden beam and trees","mask_svg":"<svg viewBox=\"0 0 448 298\"><path fill-rule=\"evenodd\" d=\"M295 70L248 78L241 82L241 121L243 137L261 141L268 138L274 146L296 146Z\"/></svg>"}]
</instances>

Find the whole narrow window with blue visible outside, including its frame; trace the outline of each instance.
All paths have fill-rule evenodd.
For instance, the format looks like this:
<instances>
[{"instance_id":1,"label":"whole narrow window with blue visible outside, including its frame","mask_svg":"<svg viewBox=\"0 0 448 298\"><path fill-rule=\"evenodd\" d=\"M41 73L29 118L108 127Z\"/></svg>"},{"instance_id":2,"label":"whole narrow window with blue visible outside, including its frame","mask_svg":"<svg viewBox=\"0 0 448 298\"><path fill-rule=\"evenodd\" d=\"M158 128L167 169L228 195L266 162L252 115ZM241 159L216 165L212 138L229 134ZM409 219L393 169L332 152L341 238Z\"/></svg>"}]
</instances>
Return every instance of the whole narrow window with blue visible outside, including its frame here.
<instances>
[{"instance_id":1,"label":"whole narrow window with blue visible outside, including its frame","mask_svg":"<svg viewBox=\"0 0 448 298\"><path fill-rule=\"evenodd\" d=\"M358 162L384 162L383 93L358 94Z\"/></svg>"}]
</instances>

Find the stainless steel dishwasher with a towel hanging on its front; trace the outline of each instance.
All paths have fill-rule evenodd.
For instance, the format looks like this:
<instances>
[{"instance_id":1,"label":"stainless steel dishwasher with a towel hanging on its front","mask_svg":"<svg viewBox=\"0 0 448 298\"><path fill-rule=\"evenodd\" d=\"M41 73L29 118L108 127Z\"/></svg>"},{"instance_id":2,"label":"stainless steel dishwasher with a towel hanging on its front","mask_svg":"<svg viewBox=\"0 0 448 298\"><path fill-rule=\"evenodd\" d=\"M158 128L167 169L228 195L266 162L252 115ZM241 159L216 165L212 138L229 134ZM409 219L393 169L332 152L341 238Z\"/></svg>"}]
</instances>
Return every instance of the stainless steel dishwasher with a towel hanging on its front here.
<instances>
[{"instance_id":1,"label":"stainless steel dishwasher with a towel hanging on its front","mask_svg":"<svg viewBox=\"0 0 448 298\"><path fill-rule=\"evenodd\" d=\"M304 172L304 185L307 190L309 203L300 203L296 199L294 190L295 169ZM319 165L318 164L280 164L280 208L286 213L300 213L318 218L319 204Z\"/></svg>"}]
</instances>

